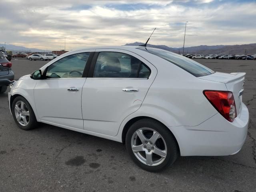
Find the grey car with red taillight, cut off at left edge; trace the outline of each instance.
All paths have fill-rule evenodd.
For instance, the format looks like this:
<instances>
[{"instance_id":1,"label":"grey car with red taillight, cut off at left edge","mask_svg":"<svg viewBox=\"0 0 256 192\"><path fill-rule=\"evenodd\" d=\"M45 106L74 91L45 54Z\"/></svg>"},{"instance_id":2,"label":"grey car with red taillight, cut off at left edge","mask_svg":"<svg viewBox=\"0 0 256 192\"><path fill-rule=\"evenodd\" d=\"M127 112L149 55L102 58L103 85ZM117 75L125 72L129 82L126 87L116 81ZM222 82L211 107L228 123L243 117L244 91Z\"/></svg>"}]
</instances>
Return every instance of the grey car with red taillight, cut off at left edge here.
<instances>
[{"instance_id":1,"label":"grey car with red taillight, cut off at left edge","mask_svg":"<svg viewBox=\"0 0 256 192\"><path fill-rule=\"evenodd\" d=\"M7 90L9 84L14 80L12 63L0 52L0 93Z\"/></svg>"}]
</instances>

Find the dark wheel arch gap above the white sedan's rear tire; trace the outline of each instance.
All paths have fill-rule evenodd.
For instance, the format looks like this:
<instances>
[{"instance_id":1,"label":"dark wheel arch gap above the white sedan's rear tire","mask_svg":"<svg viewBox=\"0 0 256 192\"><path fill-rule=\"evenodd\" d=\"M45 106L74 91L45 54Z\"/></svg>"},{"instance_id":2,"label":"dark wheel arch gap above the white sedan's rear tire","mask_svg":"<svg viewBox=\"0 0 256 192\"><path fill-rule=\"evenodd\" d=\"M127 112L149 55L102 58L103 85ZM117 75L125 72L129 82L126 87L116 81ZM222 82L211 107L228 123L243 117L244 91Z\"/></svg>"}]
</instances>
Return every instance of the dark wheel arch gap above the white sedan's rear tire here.
<instances>
[{"instance_id":1,"label":"dark wheel arch gap above the white sedan's rear tire","mask_svg":"<svg viewBox=\"0 0 256 192\"><path fill-rule=\"evenodd\" d=\"M172 133L172 131L165 124L160 122L159 120L157 120L155 118L152 118L152 117L148 117L148 116L137 116L137 117L134 117L134 118L130 119L128 122L126 122L126 124L124 125L124 128L122 130L122 143L123 144L125 143L126 134L127 134L128 130L129 130L130 126L132 124L134 124L135 122L137 122L138 120L141 120L141 119L151 119L151 120L154 120L154 121L159 122L160 124L162 124L166 128L166 130L168 130L172 134L172 136L173 136L173 138L174 138L174 140L175 140L175 142L176 142L176 144L178 146L178 152L180 154L180 146L178 144L178 141L177 141L176 137Z\"/></svg>"}]
</instances>

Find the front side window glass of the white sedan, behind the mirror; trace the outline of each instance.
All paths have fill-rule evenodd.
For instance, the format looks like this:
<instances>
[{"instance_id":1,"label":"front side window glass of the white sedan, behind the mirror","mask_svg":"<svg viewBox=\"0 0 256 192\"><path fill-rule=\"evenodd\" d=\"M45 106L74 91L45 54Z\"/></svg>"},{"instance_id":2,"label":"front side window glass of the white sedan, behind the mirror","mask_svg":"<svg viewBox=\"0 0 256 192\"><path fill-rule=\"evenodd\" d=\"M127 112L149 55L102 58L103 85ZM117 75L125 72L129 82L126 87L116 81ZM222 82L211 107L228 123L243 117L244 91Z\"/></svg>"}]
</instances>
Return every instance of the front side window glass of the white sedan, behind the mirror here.
<instances>
[{"instance_id":1,"label":"front side window glass of the white sedan, behind the mirror","mask_svg":"<svg viewBox=\"0 0 256 192\"><path fill-rule=\"evenodd\" d=\"M78 53L66 56L47 68L47 78L79 78L82 77L90 53Z\"/></svg>"}]
</instances>

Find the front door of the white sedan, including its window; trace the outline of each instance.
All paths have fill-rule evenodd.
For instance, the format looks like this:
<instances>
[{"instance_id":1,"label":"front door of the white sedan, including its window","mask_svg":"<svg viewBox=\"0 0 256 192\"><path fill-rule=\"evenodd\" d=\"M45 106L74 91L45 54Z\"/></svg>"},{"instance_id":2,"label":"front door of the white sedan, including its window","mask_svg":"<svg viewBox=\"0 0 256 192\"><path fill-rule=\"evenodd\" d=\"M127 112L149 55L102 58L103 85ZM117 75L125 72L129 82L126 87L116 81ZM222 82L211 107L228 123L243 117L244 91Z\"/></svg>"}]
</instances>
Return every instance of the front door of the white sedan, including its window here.
<instances>
[{"instance_id":1,"label":"front door of the white sedan, including its window","mask_svg":"<svg viewBox=\"0 0 256 192\"><path fill-rule=\"evenodd\" d=\"M37 80L34 97L42 122L83 129L81 96L89 55L80 52L61 58L48 66L46 79Z\"/></svg>"}]
</instances>

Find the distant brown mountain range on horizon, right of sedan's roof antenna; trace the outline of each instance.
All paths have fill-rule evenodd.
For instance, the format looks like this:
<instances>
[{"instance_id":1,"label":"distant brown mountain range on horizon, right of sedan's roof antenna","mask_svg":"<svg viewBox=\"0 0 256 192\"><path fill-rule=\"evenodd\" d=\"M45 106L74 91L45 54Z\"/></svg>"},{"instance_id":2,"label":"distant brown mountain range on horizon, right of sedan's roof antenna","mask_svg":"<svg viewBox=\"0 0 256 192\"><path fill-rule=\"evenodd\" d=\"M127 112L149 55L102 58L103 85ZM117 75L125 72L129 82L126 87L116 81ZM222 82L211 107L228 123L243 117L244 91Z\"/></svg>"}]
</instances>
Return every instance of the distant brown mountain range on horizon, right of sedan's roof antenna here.
<instances>
[{"instance_id":1,"label":"distant brown mountain range on horizon, right of sedan's roof antenna","mask_svg":"<svg viewBox=\"0 0 256 192\"><path fill-rule=\"evenodd\" d=\"M135 42L135 43L128 43L125 45L130 46L139 46L144 43ZM165 45L152 45L147 44L148 47L160 48L164 50L168 50L174 53L182 54L183 47L180 48L172 48ZM194 47L185 47L184 54L256 54L256 43L253 44L245 44L245 45L214 45L214 46L207 46L207 45L200 45Z\"/></svg>"}]
</instances>

